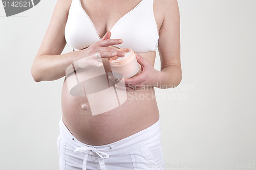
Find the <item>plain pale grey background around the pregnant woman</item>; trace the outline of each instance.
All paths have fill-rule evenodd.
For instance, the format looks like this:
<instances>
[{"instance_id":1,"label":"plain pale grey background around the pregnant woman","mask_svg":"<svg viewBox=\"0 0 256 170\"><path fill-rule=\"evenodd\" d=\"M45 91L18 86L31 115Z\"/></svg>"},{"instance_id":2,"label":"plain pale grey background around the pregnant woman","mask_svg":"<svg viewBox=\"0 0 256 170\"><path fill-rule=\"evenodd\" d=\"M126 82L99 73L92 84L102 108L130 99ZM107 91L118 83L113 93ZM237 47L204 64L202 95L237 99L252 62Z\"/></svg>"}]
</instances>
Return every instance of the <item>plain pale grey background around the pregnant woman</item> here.
<instances>
[{"instance_id":1,"label":"plain pale grey background around the pregnant woman","mask_svg":"<svg viewBox=\"0 0 256 170\"><path fill-rule=\"evenodd\" d=\"M0 5L0 169L58 169L63 78L35 83L30 74L55 4L11 17ZM179 1L183 79L156 89L166 169L256 169L255 7Z\"/></svg>"}]
</instances>

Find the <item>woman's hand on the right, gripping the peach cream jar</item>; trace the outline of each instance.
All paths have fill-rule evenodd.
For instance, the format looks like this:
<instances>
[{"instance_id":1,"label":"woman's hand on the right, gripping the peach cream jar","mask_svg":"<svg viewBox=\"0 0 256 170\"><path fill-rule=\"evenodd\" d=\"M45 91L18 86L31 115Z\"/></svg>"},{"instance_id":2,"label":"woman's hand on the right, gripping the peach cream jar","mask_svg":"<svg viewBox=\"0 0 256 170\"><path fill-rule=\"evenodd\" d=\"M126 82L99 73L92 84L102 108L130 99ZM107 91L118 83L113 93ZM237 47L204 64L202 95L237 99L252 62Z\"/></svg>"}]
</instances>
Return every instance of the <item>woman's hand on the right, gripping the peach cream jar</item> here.
<instances>
[{"instance_id":1,"label":"woman's hand on the right, gripping the peach cream jar","mask_svg":"<svg viewBox=\"0 0 256 170\"><path fill-rule=\"evenodd\" d=\"M159 77L160 71L156 70L152 64L144 59L142 56L136 54L136 58L138 63L141 65L141 70L140 72L132 77L132 78L127 78L123 79L124 80L124 85L121 85L121 83L116 84L116 88L120 89L126 89L126 90L133 90L133 89L141 89L141 88L151 88L152 86L156 86L157 83L157 78ZM114 76L110 76L109 79L113 81L118 81L121 82L123 80L116 79Z\"/></svg>"}]
</instances>

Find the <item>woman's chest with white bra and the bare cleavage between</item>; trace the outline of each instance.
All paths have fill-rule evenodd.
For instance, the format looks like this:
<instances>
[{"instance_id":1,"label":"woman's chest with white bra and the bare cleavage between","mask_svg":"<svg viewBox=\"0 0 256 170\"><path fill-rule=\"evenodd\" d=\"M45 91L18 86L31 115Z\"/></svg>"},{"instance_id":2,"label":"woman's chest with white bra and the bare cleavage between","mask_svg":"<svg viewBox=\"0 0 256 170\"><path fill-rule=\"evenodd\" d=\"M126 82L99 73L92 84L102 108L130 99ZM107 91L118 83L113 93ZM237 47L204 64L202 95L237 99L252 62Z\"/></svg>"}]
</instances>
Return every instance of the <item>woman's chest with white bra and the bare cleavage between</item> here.
<instances>
[{"instance_id":1,"label":"woman's chest with white bra and the bare cleavage between","mask_svg":"<svg viewBox=\"0 0 256 170\"><path fill-rule=\"evenodd\" d=\"M161 26L161 13L157 14L155 2L72 0L65 28L66 41L74 50L81 50L110 31L111 38L123 40L122 44L115 45L118 48L132 48L137 53L155 51Z\"/></svg>"}]
</instances>

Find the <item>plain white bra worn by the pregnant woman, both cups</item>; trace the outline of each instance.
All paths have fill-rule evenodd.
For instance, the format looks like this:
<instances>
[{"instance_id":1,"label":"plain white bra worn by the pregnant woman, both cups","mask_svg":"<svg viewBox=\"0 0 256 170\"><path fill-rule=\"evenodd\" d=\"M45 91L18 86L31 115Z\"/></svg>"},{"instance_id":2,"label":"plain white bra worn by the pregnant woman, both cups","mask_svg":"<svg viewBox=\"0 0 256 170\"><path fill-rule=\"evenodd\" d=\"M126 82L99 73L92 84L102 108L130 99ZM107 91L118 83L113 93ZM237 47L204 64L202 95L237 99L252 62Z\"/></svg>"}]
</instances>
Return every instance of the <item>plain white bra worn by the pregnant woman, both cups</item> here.
<instances>
[{"instance_id":1,"label":"plain white bra worn by the pregnant woman, both cups","mask_svg":"<svg viewBox=\"0 0 256 170\"><path fill-rule=\"evenodd\" d=\"M156 51L158 29L153 13L154 0L141 0L131 11L122 16L110 30L111 37L122 39L118 48L131 48L136 53ZM101 38L80 0L72 0L65 27L65 38L75 51L82 50Z\"/></svg>"}]
</instances>

